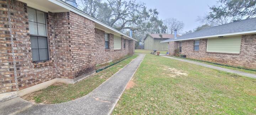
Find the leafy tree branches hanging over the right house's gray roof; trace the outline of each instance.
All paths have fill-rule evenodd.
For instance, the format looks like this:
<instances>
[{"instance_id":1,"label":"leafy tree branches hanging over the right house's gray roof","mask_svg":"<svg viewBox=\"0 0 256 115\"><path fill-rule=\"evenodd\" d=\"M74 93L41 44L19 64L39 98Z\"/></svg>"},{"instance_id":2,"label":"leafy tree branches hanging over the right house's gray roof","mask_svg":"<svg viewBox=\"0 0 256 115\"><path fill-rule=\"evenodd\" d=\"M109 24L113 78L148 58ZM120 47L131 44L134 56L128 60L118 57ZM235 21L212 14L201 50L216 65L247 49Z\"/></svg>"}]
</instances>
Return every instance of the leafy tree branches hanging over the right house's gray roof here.
<instances>
[{"instance_id":1,"label":"leafy tree branches hanging over the right house's gray roof","mask_svg":"<svg viewBox=\"0 0 256 115\"><path fill-rule=\"evenodd\" d=\"M198 21L214 25L256 17L256 0L219 0L219 6L210 7L210 12Z\"/></svg>"}]
</instances>

